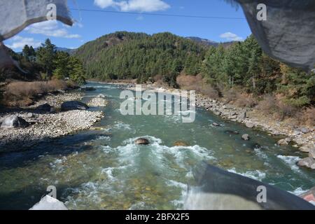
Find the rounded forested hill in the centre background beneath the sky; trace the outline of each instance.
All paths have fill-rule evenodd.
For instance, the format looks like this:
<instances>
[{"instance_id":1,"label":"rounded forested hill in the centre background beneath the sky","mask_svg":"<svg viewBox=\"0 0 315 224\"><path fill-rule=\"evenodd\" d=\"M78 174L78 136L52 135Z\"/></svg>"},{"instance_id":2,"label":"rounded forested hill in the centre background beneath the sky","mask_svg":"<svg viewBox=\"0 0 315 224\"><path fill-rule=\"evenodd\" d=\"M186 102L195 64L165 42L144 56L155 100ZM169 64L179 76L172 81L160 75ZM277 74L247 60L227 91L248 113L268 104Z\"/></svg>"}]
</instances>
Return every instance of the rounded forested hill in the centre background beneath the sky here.
<instances>
[{"instance_id":1,"label":"rounded forested hill in the centre background beneath the sky","mask_svg":"<svg viewBox=\"0 0 315 224\"><path fill-rule=\"evenodd\" d=\"M162 76L176 83L176 76L200 72L207 46L171 33L148 35L125 31L108 34L76 50L83 60L88 78L141 81Z\"/></svg>"}]
</instances>

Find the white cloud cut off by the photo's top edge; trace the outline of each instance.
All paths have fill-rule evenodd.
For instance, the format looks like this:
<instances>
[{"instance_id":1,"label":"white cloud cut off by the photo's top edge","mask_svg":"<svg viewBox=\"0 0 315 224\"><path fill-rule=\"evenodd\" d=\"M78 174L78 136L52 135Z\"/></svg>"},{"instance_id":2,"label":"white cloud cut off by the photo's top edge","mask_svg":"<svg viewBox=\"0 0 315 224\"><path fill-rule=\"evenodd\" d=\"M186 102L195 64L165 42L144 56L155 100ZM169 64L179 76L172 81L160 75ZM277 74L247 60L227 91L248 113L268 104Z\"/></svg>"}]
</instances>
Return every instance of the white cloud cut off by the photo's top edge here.
<instances>
[{"instance_id":1,"label":"white cloud cut off by the photo's top edge","mask_svg":"<svg viewBox=\"0 0 315 224\"><path fill-rule=\"evenodd\" d=\"M162 0L128 0L128 1L113 1L113 0L94 0L94 4L100 8L116 7L121 11L140 11L140 12L155 12L159 10L167 10L169 4Z\"/></svg>"}]
</instances>

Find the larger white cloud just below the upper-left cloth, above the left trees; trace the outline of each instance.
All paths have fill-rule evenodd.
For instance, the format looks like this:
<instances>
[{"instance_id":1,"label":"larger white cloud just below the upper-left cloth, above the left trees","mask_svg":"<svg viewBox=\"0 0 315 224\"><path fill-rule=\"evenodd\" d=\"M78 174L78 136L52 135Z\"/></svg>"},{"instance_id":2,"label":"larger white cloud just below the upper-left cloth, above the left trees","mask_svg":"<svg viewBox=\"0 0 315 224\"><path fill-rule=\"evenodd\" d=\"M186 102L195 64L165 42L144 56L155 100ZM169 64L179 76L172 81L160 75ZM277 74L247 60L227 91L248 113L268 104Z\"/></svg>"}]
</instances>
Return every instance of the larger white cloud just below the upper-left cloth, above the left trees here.
<instances>
[{"instance_id":1,"label":"larger white cloud just below the upper-left cloth, above the left trees","mask_svg":"<svg viewBox=\"0 0 315 224\"><path fill-rule=\"evenodd\" d=\"M80 35L78 34L69 34L66 28L59 28L57 20L48 20L45 22L35 23L27 27L25 31L29 32L30 34L43 34L45 36L80 38Z\"/></svg>"}]
</instances>

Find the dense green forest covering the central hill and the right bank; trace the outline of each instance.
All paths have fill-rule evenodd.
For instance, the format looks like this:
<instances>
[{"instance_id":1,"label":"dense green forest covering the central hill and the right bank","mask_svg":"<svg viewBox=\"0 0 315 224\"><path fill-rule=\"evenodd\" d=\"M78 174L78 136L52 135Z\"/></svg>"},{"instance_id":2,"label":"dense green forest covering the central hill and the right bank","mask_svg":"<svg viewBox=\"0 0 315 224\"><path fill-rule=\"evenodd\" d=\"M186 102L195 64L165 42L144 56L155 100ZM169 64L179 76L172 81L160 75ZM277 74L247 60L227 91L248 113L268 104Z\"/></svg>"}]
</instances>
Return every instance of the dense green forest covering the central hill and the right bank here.
<instances>
[{"instance_id":1,"label":"dense green forest covering the central hill and the right bank","mask_svg":"<svg viewBox=\"0 0 315 224\"><path fill-rule=\"evenodd\" d=\"M138 83L162 79L179 87L183 83L179 77L201 76L218 95L239 89L255 96L282 94L283 102L295 107L315 102L314 73L265 55L252 35L214 47L170 33L116 32L86 43L76 56L84 62L87 78L137 79Z\"/></svg>"}]
</instances>

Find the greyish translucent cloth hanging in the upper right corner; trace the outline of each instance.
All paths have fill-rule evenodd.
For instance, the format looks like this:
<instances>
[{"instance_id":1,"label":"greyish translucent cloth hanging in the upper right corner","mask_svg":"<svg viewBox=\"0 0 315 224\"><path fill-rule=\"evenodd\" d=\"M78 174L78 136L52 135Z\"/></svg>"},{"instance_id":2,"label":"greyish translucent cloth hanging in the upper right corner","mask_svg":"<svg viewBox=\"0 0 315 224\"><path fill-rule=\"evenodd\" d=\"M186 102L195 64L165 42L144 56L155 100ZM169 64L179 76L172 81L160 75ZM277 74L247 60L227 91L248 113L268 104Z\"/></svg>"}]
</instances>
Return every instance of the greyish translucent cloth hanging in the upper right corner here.
<instances>
[{"instance_id":1,"label":"greyish translucent cloth hanging in the upper right corner","mask_svg":"<svg viewBox=\"0 0 315 224\"><path fill-rule=\"evenodd\" d=\"M235 0L253 35L271 57L305 71L315 64L314 0ZM258 4L267 6L267 20L257 19Z\"/></svg>"}]
</instances>

